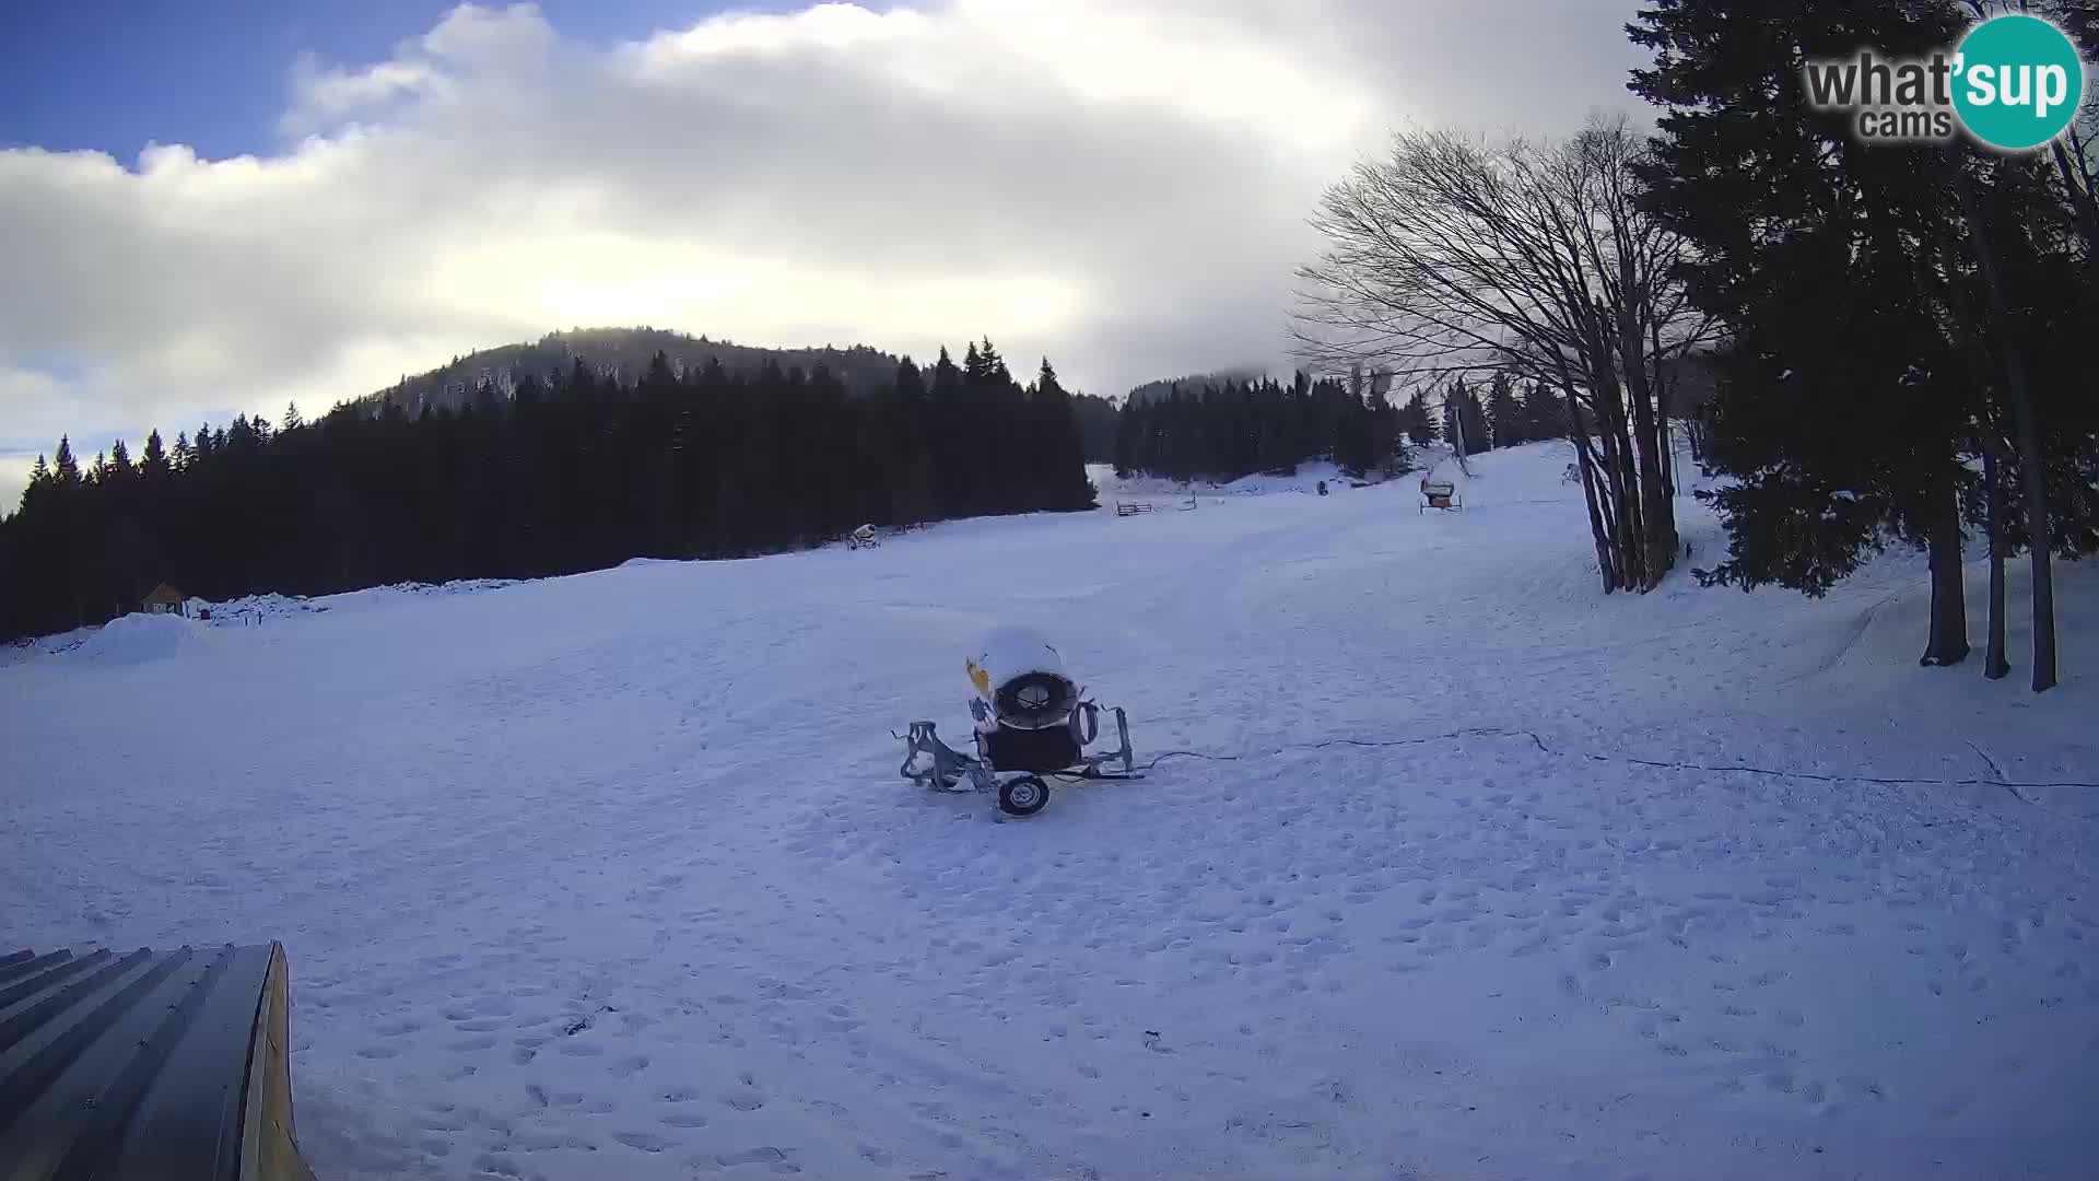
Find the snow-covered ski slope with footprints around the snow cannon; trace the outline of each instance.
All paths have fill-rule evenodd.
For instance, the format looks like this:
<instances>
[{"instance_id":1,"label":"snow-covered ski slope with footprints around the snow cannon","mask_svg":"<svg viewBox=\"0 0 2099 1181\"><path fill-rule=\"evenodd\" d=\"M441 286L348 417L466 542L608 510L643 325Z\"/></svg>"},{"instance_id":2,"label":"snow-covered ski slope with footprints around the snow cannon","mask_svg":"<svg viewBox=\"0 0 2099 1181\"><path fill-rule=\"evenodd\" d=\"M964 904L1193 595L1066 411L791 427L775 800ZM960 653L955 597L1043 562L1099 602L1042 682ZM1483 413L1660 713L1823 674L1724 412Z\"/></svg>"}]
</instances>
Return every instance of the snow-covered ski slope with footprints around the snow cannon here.
<instances>
[{"instance_id":1,"label":"snow-covered ski slope with footprints around the snow cannon","mask_svg":"<svg viewBox=\"0 0 2099 1181\"><path fill-rule=\"evenodd\" d=\"M281 939L340 1181L2089 1177L2099 572L2036 698L1908 555L1606 599L1562 469L21 651L0 944ZM896 780L995 622L1148 780Z\"/></svg>"}]
</instances>

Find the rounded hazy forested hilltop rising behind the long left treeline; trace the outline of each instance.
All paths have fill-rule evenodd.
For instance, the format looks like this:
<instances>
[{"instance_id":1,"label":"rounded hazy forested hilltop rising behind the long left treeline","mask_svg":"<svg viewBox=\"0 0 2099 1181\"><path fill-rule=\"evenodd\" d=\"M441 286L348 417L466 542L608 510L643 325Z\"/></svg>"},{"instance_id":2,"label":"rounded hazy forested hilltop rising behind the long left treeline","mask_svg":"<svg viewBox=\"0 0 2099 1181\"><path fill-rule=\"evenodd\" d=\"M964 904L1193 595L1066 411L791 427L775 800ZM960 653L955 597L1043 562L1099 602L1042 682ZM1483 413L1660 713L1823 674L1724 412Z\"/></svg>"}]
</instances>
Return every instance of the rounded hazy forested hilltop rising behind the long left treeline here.
<instances>
[{"instance_id":1,"label":"rounded hazy forested hilltop rising behind the long left treeline","mask_svg":"<svg viewBox=\"0 0 2099 1181\"><path fill-rule=\"evenodd\" d=\"M735 345L730 340L709 340L663 328L577 328L571 332L548 332L529 345L500 345L481 349L426 374L403 376L399 385L372 393L359 401L390 401L409 416L422 410L460 410L483 385L510 395L527 374L550 380L567 374L577 359L592 376L617 385L640 380L649 361L657 353L670 359L672 372L684 376L686 368L701 368L709 357L722 361L730 378L749 380L770 359L783 372L829 370L850 395L867 395L888 389L896 378L892 353L852 345L848 349L760 349Z\"/></svg>"}]
</instances>

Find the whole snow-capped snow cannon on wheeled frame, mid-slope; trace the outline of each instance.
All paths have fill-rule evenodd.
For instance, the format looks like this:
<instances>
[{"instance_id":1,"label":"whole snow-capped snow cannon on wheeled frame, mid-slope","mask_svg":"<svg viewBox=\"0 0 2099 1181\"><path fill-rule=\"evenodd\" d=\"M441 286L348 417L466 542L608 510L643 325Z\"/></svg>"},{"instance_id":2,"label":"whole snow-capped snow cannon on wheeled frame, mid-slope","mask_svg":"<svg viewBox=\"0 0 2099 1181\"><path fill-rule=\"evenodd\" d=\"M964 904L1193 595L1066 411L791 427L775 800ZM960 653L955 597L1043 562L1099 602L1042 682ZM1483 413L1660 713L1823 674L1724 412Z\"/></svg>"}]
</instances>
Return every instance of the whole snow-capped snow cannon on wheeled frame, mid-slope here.
<instances>
[{"instance_id":1,"label":"whole snow-capped snow cannon on wheeled frame, mid-slope","mask_svg":"<svg viewBox=\"0 0 2099 1181\"><path fill-rule=\"evenodd\" d=\"M997 792L999 811L1035 815L1050 803L1047 778L1136 780L1129 754L1129 719L1115 706L1115 750L1087 754L1100 735L1100 706L1064 675L1056 647L1029 628L984 633L976 656L963 662L976 696L976 754L940 742L930 721L911 723L898 773L942 792ZM1121 771L1102 767L1121 765Z\"/></svg>"}]
</instances>

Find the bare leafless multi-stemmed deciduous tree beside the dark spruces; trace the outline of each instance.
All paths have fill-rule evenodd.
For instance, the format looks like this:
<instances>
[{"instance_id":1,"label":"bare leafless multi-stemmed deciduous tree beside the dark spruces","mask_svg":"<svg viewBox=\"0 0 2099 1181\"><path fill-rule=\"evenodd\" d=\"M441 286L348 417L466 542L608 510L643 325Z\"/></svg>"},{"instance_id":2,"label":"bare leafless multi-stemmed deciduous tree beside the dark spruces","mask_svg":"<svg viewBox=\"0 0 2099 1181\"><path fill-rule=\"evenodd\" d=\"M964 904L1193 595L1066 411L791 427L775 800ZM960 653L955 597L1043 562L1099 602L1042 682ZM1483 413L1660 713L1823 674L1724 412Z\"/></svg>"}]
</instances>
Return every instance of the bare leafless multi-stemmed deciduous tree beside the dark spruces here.
<instances>
[{"instance_id":1,"label":"bare leafless multi-stemmed deciduous tree beside the dark spruces","mask_svg":"<svg viewBox=\"0 0 2099 1181\"><path fill-rule=\"evenodd\" d=\"M1327 189L1327 250L1299 271L1310 364L1560 391L1606 593L1675 563L1667 382L1711 324L1677 277L1685 244L1637 208L1641 151L1625 118L1562 143L1402 132Z\"/></svg>"}]
</instances>

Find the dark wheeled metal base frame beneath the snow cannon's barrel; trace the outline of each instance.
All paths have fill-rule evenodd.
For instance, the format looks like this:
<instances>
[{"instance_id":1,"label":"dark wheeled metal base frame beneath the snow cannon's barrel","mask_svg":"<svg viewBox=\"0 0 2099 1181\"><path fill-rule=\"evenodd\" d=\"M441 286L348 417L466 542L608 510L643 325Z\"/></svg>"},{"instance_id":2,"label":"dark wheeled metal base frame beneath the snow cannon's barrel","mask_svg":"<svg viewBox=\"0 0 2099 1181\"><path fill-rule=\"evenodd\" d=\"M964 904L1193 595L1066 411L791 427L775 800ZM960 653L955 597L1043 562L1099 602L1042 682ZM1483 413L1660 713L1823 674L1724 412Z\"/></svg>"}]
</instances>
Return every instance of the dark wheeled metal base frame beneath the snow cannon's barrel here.
<instances>
[{"instance_id":1,"label":"dark wheeled metal base frame beneath the snow cannon's barrel","mask_svg":"<svg viewBox=\"0 0 2099 1181\"><path fill-rule=\"evenodd\" d=\"M905 780L921 788L942 792L997 792L999 811L1005 815L1035 815L1050 805L1050 780L1142 780L1136 757L1129 750L1129 717L1123 706L1112 706L1115 733L1119 746L1087 754L1085 746L1100 738L1100 706L1081 700L1062 725L1045 729L1020 729L995 723L982 700L970 702L976 727L976 754L963 754L934 733L930 721L911 723L911 733L898 735L905 742L905 761L896 769ZM1121 771L1102 767L1121 763Z\"/></svg>"}]
</instances>

